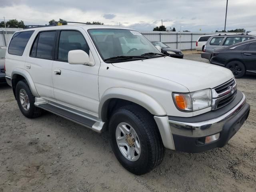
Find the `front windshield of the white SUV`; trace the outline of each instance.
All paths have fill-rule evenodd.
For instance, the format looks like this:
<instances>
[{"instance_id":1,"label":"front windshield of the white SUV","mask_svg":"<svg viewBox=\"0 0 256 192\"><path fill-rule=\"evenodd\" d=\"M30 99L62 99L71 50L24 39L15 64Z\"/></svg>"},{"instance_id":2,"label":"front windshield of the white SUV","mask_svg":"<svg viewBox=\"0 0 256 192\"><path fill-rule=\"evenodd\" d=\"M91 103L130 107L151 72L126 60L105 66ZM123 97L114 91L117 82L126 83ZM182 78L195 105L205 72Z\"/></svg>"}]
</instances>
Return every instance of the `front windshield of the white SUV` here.
<instances>
[{"instance_id":1,"label":"front windshield of the white SUV","mask_svg":"<svg viewBox=\"0 0 256 192\"><path fill-rule=\"evenodd\" d=\"M145 59L148 57L142 55L148 53L150 58L162 56L146 37L134 30L90 29L88 32L103 60Z\"/></svg>"}]
</instances>

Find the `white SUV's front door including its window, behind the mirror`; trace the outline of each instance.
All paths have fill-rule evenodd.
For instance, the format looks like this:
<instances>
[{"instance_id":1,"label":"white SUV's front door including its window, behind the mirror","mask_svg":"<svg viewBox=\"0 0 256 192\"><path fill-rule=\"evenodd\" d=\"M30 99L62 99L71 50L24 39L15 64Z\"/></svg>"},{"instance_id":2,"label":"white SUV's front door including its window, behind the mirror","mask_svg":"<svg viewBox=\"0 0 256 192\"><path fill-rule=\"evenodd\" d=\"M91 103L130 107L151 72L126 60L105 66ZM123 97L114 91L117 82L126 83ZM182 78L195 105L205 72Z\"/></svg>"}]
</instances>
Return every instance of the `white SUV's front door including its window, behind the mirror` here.
<instances>
[{"instance_id":1,"label":"white SUV's front door including its window, behind the mirror","mask_svg":"<svg viewBox=\"0 0 256 192\"><path fill-rule=\"evenodd\" d=\"M82 34L84 33L84 34ZM86 41L87 38L87 41ZM89 47L88 36L83 31L60 30L56 55L52 66L52 80L55 99L63 104L98 114L98 70L100 62L95 60ZM84 50L94 62L94 66L68 63L70 50Z\"/></svg>"}]
</instances>

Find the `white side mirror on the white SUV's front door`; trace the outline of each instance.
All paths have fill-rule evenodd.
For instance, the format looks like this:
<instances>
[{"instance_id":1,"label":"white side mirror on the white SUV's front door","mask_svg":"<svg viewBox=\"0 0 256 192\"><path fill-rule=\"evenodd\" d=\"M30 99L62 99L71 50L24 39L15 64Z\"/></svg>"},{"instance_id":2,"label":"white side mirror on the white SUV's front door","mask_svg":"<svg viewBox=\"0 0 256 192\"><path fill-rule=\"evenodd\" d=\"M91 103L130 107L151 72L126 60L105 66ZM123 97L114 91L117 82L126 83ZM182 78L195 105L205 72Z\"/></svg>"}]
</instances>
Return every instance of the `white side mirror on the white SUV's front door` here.
<instances>
[{"instance_id":1,"label":"white side mirror on the white SUV's front door","mask_svg":"<svg viewBox=\"0 0 256 192\"><path fill-rule=\"evenodd\" d=\"M68 52L68 63L74 65L88 65L94 66L92 62L90 62L89 55L83 50L72 50Z\"/></svg>"}]
</instances>

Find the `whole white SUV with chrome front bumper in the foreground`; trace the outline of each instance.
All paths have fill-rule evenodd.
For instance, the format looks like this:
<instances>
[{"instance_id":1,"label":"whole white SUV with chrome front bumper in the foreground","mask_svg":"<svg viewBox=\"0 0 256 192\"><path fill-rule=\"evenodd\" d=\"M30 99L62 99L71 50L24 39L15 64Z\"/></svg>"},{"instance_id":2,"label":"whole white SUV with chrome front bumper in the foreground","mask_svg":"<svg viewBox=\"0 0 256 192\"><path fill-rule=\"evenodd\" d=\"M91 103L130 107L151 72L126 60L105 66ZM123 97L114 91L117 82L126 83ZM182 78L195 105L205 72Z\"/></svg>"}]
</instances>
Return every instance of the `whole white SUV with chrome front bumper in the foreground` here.
<instances>
[{"instance_id":1,"label":"whole white SUV with chrome front bumper in the foreground","mask_svg":"<svg viewBox=\"0 0 256 192\"><path fill-rule=\"evenodd\" d=\"M99 133L108 130L116 158L134 174L160 164L165 148L224 146L250 110L230 70L162 55L127 28L20 30L5 64L24 116L46 110Z\"/></svg>"}]
</instances>

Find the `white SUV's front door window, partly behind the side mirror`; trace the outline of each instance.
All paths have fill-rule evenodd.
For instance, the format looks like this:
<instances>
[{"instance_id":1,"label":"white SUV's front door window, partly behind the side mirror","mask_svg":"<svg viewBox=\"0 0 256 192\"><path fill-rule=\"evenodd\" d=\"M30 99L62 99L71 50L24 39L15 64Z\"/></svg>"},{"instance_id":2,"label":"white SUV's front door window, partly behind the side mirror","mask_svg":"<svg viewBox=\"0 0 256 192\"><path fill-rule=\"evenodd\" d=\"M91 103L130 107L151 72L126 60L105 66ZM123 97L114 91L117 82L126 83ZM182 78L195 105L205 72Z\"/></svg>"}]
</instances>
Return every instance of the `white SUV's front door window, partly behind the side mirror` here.
<instances>
[{"instance_id":1,"label":"white SUV's front door window, partly behind the side mirror","mask_svg":"<svg viewBox=\"0 0 256 192\"><path fill-rule=\"evenodd\" d=\"M58 59L68 61L68 52L71 50L83 50L89 55L89 46L84 39L84 36L78 31L61 31Z\"/></svg>"}]
</instances>

